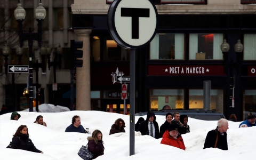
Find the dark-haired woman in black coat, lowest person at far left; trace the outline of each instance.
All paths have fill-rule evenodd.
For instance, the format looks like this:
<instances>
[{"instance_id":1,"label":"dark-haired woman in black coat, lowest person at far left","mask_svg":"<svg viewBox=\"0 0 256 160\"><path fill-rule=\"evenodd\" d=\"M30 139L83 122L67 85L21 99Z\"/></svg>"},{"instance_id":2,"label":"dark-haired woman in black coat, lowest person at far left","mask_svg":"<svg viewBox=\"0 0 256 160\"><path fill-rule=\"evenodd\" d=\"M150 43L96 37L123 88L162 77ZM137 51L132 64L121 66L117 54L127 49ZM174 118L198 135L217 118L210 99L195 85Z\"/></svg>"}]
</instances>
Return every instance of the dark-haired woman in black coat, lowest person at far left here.
<instances>
[{"instance_id":1,"label":"dark-haired woman in black coat, lowest person at far left","mask_svg":"<svg viewBox=\"0 0 256 160\"><path fill-rule=\"evenodd\" d=\"M26 125L21 125L18 127L18 130L13 135L11 148L23 149L43 154L41 150L38 150L34 146L34 143L31 141L31 139L29 139L28 127Z\"/></svg>"}]
</instances>

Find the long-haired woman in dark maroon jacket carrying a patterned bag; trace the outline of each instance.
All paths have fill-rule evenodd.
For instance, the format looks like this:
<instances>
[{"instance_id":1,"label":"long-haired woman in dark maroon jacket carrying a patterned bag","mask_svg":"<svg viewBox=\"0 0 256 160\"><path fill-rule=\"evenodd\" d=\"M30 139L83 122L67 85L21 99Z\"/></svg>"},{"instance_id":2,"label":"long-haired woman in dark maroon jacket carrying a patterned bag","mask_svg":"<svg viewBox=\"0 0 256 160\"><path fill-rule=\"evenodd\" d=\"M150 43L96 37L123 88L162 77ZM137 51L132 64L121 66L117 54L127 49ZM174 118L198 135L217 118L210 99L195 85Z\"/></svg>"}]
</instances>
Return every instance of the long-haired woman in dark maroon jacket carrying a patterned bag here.
<instances>
[{"instance_id":1,"label":"long-haired woman in dark maroon jacket carrying a patterned bag","mask_svg":"<svg viewBox=\"0 0 256 160\"><path fill-rule=\"evenodd\" d=\"M104 154L104 146L102 141L102 133L100 130L94 130L92 132L92 137L87 137L88 142L88 149L91 151L91 153L94 154L92 159L95 159L101 155Z\"/></svg>"}]
</instances>

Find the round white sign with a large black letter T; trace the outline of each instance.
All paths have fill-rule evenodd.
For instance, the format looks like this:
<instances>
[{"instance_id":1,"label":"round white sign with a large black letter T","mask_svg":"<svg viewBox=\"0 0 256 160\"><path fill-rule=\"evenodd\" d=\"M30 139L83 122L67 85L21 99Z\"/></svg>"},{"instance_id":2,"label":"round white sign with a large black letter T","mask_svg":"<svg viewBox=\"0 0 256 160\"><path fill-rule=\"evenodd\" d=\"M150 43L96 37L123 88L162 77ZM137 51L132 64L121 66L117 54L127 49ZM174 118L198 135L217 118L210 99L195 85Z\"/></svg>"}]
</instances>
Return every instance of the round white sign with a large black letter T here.
<instances>
[{"instance_id":1,"label":"round white sign with a large black letter T","mask_svg":"<svg viewBox=\"0 0 256 160\"><path fill-rule=\"evenodd\" d=\"M145 46L156 34L156 6L149 0L115 0L108 10L108 26L112 38L122 47Z\"/></svg>"}]
</instances>

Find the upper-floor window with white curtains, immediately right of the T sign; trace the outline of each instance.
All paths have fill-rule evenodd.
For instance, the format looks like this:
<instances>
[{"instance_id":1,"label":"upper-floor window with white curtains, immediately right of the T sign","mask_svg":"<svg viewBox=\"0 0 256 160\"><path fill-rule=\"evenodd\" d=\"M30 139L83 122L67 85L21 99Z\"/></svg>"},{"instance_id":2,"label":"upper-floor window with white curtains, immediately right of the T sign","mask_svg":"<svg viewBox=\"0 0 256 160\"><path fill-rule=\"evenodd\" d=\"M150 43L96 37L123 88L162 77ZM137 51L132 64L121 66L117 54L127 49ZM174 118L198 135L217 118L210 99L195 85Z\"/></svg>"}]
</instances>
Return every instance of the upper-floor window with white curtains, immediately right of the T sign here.
<instances>
[{"instance_id":1,"label":"upper-floor window with white curtains, immediately right of the T sign","mask_svg":"<svg viewBox=\"0 0 256 160\"><path fill-rule=\"evenodd\" d=\"M150 59L184 59L184 34L156 34L150 42Z\"/></svg>"}]
</instances>

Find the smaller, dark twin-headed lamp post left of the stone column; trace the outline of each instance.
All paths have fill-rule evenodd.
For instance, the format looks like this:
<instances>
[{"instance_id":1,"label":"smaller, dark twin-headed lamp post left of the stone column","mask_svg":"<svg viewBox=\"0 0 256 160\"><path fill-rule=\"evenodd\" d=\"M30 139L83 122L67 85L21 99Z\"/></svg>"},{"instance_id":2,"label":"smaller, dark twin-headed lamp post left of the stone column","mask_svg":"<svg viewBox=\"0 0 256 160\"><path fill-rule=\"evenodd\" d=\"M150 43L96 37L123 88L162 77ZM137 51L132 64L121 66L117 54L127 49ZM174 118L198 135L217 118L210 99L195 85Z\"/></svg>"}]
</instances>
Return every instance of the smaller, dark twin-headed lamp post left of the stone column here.
<instances>
[{"instance_id":1,"label":"smaller, dark twin-headed lamp post left of the stone column","mask_svg":"<svg viewBox=\"0 0 256 160\"><path fill-rule=\"evenodd\" d=\"M51 66L53 66L53 101L54 101L54 106L57 106L57 90L58 90L58 84L56 83L56 68L59 66L59 69L61 69L61 55L63 53L63 49L61 48L60 44L57 47L57 54L55 54L53 62L51 62L51 49L50 47L47 47L47 63L48 63L48 69L50 70Z\"/></svg>"}]
</instances>

